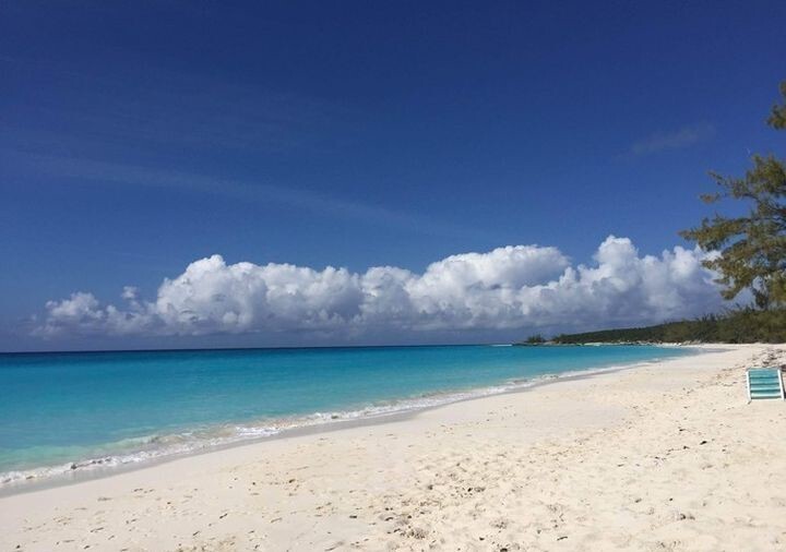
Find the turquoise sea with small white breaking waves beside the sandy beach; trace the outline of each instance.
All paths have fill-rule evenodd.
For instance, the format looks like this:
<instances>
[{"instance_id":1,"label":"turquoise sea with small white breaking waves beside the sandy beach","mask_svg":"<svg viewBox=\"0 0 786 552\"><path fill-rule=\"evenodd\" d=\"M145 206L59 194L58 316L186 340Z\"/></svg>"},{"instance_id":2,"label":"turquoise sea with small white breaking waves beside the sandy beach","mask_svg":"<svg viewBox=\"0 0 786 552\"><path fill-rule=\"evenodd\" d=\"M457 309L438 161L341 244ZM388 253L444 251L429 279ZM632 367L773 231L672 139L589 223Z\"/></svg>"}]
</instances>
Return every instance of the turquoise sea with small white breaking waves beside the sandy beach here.
<instances>
[{"instance_id":1,"label":"turquoise sea with small white breaking waves beside the sandy beach","mask_svg":"<svg viewBox=\"0 0 786 552\"><path fill-rule=\"evenodd\" d=\"M0 483L688 352L460 346L0 355Z\"/></svg>"}]
</instances>

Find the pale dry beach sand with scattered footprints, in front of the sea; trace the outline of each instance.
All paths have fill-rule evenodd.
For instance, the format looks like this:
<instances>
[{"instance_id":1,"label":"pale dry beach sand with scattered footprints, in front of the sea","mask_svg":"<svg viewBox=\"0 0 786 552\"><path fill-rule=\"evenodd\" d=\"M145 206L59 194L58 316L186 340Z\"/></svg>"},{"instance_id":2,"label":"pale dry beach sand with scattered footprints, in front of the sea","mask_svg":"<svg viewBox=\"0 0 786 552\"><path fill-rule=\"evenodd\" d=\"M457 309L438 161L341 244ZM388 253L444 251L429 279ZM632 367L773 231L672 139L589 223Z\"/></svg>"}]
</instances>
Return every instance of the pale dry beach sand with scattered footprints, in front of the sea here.
<instances>
[{"instance_id":1,"label":"pale dry beach sand with scattered footprints, in front of the sea","mask_svg":"<svg viewBox=\"0 0 786 552\"><path fill-rule=\"evenodd\" d=\"M0 550L786 550L786 347L560 381L0 499Z\"/></svg>"}]
</instances>

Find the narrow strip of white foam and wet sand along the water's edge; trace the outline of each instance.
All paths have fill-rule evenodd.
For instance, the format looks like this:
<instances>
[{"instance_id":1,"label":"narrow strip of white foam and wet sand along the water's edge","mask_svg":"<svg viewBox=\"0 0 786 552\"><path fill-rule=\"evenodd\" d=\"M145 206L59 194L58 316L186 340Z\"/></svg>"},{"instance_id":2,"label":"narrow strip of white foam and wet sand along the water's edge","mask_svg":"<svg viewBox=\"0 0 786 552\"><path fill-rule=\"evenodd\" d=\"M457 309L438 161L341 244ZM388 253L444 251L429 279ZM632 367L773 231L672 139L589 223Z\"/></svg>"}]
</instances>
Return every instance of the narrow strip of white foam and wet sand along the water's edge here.
<instances>
[{"instance_id":1,"label":"narrow strip of white foam and wet sand along the water's edge","mask_svg":"<svg viewBox=\"0 0 786 552\"><path fill-rule=\"evenodd\" d=\"M514 345L507 346L512 347ZM570 346L573 347L573 345ZM591 346L597 345L592 344ZM560 347L565 346L560 345ZM693 355L702 355L706 352L724 350L723 344L659 344L654 345L654 347L684 348L689 350L692 349ZM689 353L687 356L691 355ZM290 424L282 424L278 427L271 425L270 428L257 427L252 424L250 425L254 429L270 429L270 433L260 432L260 434L249 435L246 437L226 437L225 442L218 443L193 443L193 446L187 449L176 449L171 452L166 449L152 451L152 453L157 454L151 454L150 456L146 456L147 452L143 451L136 453L129 452L119 456L108 455L96 458L71 460L55 466L40 466L23 470L11 470L0 473L4 477L11 475L15 476L15 478L13 479L0 481L0 497L12 496L15 494L27 492L35 492L37 490L79 484L81 482L91 481L94 479L110 478L120 473L143 470L160 464L177 461L182 458L217 453L221 451L265 443L269 441L277 441L294 436L313 435L333 431L341 431L343 429L403 421L407 418L417 416L420 412L438 409L448 405L478 400L498 395L525 393L529 389L543 385L582 377L592 377L598 374L614 373L622 370L634 370L636 368L647 367L659 362L667 362L668 360L670 360L670 358L654 358L652 360L644 360L634 363L610 364L599 368L569 370L558 373L545 373L531 380L512 380L508 382L502 382L497 385L473 387L458 391L445 391L441 393L428 394L417 398L394 399L390 404L385 404L384 406L370 405L359 410L340 410L337 412L327 413L314 412L302 417L284 418L277 420L277 422L282 422L283 420L291 420ZM386 408L390 408L390 410L386 410ZM374 409L379 409L379 411L373 411ZM330 418L319 418L320 416L330 416ZM270 423L274 424L276 423L276 420L271 420ZM237 423L235 425L242 427L243 424ZM166 435L164 435L164 437L166 437ZM143 456L142 458L136 459L135 457L139 455ZM74 468L73 466L76 467Z\"/></svg>"}]
</instances>

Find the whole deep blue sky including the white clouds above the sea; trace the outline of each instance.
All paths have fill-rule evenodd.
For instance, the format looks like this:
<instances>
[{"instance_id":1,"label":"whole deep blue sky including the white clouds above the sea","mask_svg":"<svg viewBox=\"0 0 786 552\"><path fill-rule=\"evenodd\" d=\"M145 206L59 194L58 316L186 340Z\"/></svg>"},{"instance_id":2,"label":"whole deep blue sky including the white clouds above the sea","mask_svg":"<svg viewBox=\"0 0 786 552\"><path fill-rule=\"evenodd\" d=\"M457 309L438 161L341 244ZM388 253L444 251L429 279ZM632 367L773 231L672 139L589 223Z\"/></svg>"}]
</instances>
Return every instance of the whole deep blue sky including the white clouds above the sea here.
<instances>
[{"instance_id":1,"label":"whole deep blue sky including the white clouds above the sea","mask_svg":"<svg viewBox=\"0 0 786 552\"><path fill-rule=\"evenodd\" d=\"M3 2L0 350L496 343L724 308L786 3ZM731 209L734 212L734 208Z\"/></svg>"}]
</instances>

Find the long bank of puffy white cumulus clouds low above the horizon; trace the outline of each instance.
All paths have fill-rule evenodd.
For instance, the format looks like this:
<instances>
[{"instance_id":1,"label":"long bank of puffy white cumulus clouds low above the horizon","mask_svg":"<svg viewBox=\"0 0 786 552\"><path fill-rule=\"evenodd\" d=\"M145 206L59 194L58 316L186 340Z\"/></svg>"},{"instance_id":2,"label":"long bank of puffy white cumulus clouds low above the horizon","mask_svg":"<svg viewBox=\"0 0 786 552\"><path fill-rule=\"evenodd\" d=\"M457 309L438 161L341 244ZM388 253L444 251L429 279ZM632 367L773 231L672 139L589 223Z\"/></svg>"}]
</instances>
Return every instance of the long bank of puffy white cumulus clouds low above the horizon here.
<instances>
[{"instance_id":1,"label":"long bank of puffy white cumulus clouds low above the horizon","mask_svg":"<svg viewBox=\"0 0 786 552\"><path fill-rule=\"evenodd\" d=\"M515 245L452 255L422 274L376 266L362 274L329 266L227 264L201 259L165 279L153 300L132 286L121 307L74 292L46 304L36 333L206 335L319 333L336 338L371 332L488 331L639 324L717 310L707 253L676 247L640 255L610 236L591 265L573 265L557 248Z\"/></svg>"}]
</instances>

